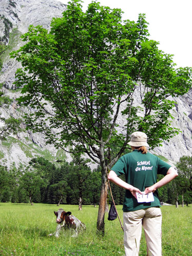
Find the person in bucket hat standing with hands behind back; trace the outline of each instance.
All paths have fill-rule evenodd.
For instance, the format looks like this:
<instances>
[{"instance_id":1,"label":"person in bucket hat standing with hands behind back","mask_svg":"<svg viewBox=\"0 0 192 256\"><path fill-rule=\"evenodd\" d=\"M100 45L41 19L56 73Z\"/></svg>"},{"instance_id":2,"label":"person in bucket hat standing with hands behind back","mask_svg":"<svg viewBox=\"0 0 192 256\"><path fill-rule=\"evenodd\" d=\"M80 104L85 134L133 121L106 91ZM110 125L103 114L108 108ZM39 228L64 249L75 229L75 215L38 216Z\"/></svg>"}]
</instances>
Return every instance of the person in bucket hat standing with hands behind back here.
<instances>
[{"instance_id":1,"label":"person in bucket hat standing with hands behind back","mask_svg":"<svg viewBox=\"0 0 192 256\"><path fill-rule=\"evenodd\" d=\"M178 176L176 170L157 156L147 152L147 136L131 135L133 152L122 156L111 168L108 179L125 188L123 203L125 256L137 256L142 226L147 255L161 256L161 209L157 189ZM118 176L124 174L125 182ZM157 182L157 174L164 177Z\"/></svg>"}]
</instances>

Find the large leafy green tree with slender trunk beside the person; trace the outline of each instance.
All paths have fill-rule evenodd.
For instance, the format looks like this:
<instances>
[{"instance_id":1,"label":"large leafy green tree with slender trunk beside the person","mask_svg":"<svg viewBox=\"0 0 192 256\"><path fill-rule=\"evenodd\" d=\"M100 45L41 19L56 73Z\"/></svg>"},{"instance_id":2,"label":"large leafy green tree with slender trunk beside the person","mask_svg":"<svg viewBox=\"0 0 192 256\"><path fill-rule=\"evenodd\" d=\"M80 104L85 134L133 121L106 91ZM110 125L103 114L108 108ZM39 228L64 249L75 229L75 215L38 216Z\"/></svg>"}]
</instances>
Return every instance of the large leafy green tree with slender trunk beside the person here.
<instances>
[{"instance_id":1,"label":"large leafy green tree with slender trunk beside the person","mask_svg":"<svg viewBox=\"0 0 192 256\"><path fill-rule=\"evenodd\" d=\"M32 110L26 114L28 129L100 164L102 232L106 168L136 130L148 135L152 148L178 133L170 124L174 102L168 97L184 94L191 84L190 70L174 69L172 56L147 39L144 15L135 23L122 22L121 14L96 2L83 12L73 0L49 32L30 26L22 36L26 44L12 53L23 65L15 84L23 88L19 102Z\"/></svg>"}]
</instances>

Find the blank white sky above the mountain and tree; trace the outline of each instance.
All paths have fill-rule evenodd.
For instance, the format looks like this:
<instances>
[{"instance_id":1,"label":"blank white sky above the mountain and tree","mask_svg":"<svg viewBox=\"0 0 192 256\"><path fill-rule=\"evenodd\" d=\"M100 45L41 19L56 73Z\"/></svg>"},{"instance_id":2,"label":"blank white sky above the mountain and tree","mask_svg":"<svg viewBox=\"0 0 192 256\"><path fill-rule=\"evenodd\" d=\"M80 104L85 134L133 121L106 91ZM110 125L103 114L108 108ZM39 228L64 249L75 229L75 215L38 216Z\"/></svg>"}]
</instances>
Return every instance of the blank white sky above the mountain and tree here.
<instances>
[{"instance_id":1,"label":"blank white sky above the mountain and tree","mask_svg":"<svg viewBox=\"0 0 192 256\"><path fill-rule=\"evenodd\" d=\"M67 4L68 0L59 0ZM82 0L83 1L83 0ZM83 11L92 0L84 0ZM137 21L146 14L150 38L160 42L159 49L173 54L177 67L192 67L192 0L100 0L101 5L120 8L123 19Z\"/></svg>"}]
</instances>

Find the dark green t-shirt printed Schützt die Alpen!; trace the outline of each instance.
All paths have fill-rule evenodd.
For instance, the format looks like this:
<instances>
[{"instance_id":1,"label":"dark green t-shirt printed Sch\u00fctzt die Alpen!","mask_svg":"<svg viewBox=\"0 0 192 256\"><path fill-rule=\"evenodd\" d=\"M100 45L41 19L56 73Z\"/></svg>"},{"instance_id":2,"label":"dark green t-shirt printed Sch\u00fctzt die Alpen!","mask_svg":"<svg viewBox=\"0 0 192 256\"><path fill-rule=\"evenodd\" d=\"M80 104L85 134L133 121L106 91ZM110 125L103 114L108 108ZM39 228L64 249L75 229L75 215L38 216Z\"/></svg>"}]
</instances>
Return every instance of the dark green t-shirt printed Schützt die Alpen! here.
<instances>
[{"instance_id":1,"label":"dark green t-shirt printed Sch\u00fctzt die Alpen!","mask_svg":"<svg viewBox=\"0 0 192 256\"><path fill-rule=\"evenodd\" d=\"M142 154L138 150L119 158L111 168L117 176L124 174L125 181L134 187L144 191L157 182L157 174L166 175L171 165L165 163L151 153ZM134 211L148 207L160 206L157 190L154 193L154 201L150 203L138 203L129 190L125 190L123 211Z\"/></svg>"}]
</instances>

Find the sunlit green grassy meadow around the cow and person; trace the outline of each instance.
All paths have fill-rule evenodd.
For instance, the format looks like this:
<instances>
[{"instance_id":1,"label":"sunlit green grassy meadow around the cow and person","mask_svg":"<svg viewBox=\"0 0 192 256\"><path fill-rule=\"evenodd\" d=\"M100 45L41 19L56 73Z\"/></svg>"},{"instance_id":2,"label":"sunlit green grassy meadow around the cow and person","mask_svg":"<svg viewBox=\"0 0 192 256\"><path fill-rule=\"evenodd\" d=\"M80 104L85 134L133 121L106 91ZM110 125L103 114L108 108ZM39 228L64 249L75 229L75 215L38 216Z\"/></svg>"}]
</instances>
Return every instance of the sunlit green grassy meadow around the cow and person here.
<instances>
[{"instance_id":1,"label":"sunlit green grassy meadow around the cow and person","mask_svg":"<svg viewBox=\"0 0 192 256\"><path fill-rule=\"evenodd\" d=\"M56 228L54 210L71 211L87 226L72 238L69 231L59 238L49 237ZM192 205L162 206L162 250L165 256L192 254ZM122 221L122 205L117 206ZM105 215L104 237L96 233L98 206L0 203L0 255L17 256L111 256L124 255L123 231L119 220L108 221ZM146 255L142 233L139 256Z\"/></svg>"}]
</instances>

